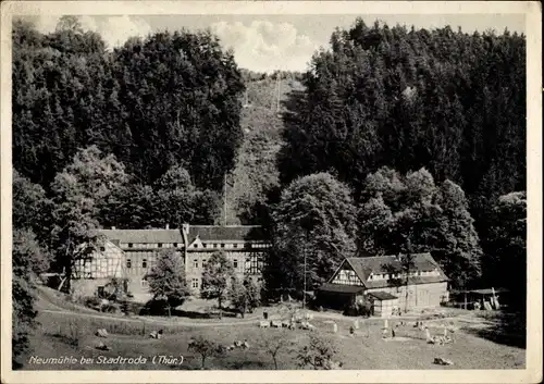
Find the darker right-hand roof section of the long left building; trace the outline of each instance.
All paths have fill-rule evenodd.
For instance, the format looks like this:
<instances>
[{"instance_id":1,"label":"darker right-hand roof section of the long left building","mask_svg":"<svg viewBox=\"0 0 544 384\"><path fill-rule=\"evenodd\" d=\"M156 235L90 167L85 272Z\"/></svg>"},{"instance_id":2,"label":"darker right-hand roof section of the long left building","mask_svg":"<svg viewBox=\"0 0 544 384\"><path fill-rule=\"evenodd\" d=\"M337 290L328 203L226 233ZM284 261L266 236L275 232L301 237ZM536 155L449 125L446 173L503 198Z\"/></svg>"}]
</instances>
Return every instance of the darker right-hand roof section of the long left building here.
<instances>
[{"instance_id":1,"label":"darker right-hand roof section of the long left building","mask_svg":"<svg viewBox=\"0 0 544 384\"><path fill-rule=\"evenodd\" d=\"M264 233L260 225L189 225L189 244L199 237L202 241L263 241Z\"/></svg>"}]
</instances>

